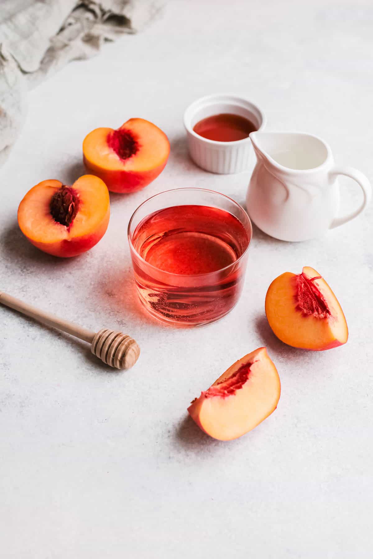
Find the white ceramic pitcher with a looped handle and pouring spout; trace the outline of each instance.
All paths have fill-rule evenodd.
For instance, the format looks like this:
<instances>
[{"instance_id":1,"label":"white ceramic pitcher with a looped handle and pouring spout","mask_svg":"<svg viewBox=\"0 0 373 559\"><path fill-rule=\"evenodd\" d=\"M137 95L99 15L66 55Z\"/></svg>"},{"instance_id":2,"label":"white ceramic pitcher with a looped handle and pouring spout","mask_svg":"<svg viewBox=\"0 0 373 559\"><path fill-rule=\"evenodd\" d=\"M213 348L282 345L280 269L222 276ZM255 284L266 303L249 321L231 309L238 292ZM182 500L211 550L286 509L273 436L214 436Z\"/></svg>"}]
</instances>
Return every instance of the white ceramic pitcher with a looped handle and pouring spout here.
<instances>
[{"instance_id":1,"label":"white ceramic pitcher with a looped handle and pouring spout","mask_svg":"<svg viewBox=\"0 0 373 559\"><path fill-rule=\"evenodd\" d=\"M298 132L252 132L257 156L247 192L247 211L259 229L285 241L316 238L350 221L367 206L370 182L352 167L334 165L332 151L317 136ZM338 216L338 175L352 178L362 205Z\"/></svg>"}]
</instances>

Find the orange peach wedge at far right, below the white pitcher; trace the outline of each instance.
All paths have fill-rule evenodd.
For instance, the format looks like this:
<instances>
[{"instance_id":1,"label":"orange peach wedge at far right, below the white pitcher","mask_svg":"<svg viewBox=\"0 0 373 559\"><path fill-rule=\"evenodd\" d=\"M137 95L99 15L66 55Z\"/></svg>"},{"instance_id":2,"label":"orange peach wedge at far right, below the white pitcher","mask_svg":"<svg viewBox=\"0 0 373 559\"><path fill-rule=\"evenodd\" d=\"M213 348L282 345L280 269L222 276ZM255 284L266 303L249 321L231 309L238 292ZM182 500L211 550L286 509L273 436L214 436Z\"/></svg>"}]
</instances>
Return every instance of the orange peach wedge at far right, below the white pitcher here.
<instances>
[{"instance_id":1,"label":"orange peach wedge at far right, below the white pitcher","mask_svg":"<svg viewBox=\"0 0 373 559\"><path fill-rule=\"evenodd\" d=\"M346 319L337 297L314 268L285 272L273 280L266 296L273 332L295 348L322 351L345 344Z\"/></svg>"}]
</instances>

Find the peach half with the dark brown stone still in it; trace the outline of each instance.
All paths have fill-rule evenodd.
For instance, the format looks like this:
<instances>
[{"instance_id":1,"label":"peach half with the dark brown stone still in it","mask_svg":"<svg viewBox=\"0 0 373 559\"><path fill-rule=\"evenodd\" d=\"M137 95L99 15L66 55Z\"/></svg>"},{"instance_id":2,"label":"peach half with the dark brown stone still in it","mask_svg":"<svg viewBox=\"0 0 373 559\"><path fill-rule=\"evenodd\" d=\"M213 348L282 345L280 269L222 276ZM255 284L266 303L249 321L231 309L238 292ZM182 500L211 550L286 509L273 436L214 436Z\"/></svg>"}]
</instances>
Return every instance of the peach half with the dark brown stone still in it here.
<instances>
[{"instance_id":1,"label":"peach half with the dark brown stone still in it","mask_svg":"<svg viewBox=\"0 0 373 559\"><path fill-rule=\"evenodd\" d=\"M18 207L18 225L35 247L70 257L95 246L107 229L110 198L105 183L93 175L72 186L49 180L36 184Z\"/></svg>"}]
</instances>

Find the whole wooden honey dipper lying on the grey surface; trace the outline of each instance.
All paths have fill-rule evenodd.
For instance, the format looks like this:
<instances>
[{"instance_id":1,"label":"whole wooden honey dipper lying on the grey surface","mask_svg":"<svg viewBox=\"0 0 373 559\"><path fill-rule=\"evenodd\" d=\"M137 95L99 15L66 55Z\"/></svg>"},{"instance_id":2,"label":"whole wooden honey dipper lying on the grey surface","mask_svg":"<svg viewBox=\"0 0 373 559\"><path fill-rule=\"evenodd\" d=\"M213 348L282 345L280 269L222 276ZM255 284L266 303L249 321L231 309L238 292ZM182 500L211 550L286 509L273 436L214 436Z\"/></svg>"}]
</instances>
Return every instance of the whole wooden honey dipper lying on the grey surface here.
<instances>
[{"instance_id":1,"label":"whole wooden honey dipper lying on the grey surface","mask_svg":"<svg viewBox=\"0 0 373 559\"><path fill-rule=\"evenodd\" d=\"M31 316L35 320L58 330L72 334L75 338L91 344L91 351L110 367L117 369L130 369L134 366L140 355L140 348L133 338L116 330L103 328L97 333L82 328L73 322L58 318L49 312L36 309L27 303L16 299L7 293L0 292L0 303Z\"/></svg>"}]
</instances>

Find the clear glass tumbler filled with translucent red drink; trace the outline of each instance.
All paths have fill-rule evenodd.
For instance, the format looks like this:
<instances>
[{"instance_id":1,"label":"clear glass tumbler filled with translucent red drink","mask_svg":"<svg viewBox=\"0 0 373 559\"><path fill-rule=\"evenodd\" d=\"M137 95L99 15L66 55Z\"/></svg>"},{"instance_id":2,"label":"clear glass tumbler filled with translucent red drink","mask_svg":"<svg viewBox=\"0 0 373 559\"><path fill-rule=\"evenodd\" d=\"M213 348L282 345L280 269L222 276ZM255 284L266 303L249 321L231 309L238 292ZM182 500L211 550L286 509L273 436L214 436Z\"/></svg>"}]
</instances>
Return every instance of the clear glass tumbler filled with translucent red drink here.
<instances>
[{"instance_id":1,"label":"clear glass tumbler filled with translucent red drink","mask_svg":"<svg viewBox=\"0 0 373 559\"><path fill-rule=\"evenodd\" d=\"M245 210L219 192L178 188L152 196L128 225L141 304L168 324L219 320L239 299L251 238Z\"/></svg>"}]
</instances>

